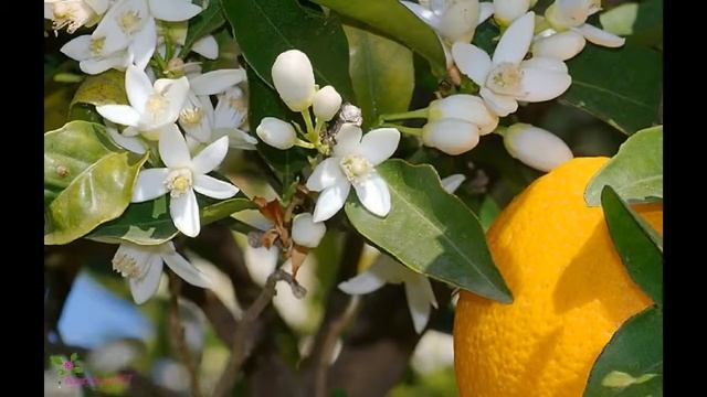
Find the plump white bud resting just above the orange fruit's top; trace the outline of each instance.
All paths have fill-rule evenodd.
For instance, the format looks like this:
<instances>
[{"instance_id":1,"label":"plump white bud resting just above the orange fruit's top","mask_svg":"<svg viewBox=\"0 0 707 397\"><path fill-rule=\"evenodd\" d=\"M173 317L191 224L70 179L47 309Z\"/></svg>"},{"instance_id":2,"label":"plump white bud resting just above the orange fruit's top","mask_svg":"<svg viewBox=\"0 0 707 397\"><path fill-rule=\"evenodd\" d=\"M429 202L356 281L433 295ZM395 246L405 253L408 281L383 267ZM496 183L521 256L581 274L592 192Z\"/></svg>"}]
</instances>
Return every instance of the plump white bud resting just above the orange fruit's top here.
<instances>
[{"instance_id":1,"label":"plump white bud resting just above the orange fruit's top","mask_svg":"<svg viewBox=\"0 0 707 397\"><path fill-rule=\"evenodd\" d=\"M556 135L528 124L515 124L504 133L508 153L536 170L550 172L572 160L572 151Z\"/></svg>"}]
</instances>

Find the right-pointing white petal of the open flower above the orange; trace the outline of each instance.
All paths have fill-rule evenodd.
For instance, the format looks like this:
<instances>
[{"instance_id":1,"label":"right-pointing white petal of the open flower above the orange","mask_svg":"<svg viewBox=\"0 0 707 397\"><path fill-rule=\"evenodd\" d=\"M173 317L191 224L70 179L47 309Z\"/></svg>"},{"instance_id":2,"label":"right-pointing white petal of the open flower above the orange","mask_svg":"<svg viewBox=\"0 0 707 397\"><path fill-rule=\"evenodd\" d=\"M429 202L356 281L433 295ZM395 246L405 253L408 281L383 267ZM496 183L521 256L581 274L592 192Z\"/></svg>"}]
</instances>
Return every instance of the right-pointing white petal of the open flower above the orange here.
<instances>
[{"instance_id":1,"label":"right-pointing white petal of the open flower above the orange","mask_svg":"<svg viewBox=\"0 0 707 397\"><path fill-rule=\"evenodd\" d=\"M567 73L525 67L520 79L524 94L518 97L518 100L536 103L555 99L562 95L571 84L572 77Z\"/></svg>"}]
</instances>

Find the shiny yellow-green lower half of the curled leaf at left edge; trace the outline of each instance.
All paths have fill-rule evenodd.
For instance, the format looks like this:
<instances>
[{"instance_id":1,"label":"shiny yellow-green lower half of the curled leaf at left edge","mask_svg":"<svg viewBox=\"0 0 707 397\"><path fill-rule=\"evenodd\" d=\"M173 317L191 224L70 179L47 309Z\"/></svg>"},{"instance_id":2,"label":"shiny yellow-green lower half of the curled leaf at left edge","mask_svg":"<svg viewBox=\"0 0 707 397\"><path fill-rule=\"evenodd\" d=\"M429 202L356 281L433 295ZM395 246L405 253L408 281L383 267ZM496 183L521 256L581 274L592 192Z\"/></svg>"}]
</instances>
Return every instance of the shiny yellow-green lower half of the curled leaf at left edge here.
<instances>
[{"instance_id":1,"label":"shiny yellow-green lower half of the curled leaf at left edge","mask_svg":"<svg viewBox=\"0 0 707 397\"><path fill-rule=\"evenodd\" d=\"M135 160L128 152L110 152L78 174L49 205L44 244L71 243L120 216L146 160L147 154Z\"/></svg>"}]
</instances>

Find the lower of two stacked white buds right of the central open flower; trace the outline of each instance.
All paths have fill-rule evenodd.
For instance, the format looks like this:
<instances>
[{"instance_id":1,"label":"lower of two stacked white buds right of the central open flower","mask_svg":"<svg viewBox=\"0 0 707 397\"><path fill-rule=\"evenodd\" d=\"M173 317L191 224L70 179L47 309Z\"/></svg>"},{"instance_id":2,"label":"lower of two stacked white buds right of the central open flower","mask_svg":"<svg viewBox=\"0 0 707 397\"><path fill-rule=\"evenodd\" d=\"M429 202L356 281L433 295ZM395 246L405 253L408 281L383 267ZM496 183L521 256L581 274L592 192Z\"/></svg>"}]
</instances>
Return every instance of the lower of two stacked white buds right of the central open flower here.
<instances>
[{"instance_id":1,"label":"lower of two stacked white buds right of the central open flower","mask_svg":"<svg viewBox=\"0 0 707 397\"><path fill-rule=\"evenodd\" d=\"M422 142L447 154L467 152L478 144L478 127L460 119L428 122L422 128Z\"/></svg>"}]
</instances>

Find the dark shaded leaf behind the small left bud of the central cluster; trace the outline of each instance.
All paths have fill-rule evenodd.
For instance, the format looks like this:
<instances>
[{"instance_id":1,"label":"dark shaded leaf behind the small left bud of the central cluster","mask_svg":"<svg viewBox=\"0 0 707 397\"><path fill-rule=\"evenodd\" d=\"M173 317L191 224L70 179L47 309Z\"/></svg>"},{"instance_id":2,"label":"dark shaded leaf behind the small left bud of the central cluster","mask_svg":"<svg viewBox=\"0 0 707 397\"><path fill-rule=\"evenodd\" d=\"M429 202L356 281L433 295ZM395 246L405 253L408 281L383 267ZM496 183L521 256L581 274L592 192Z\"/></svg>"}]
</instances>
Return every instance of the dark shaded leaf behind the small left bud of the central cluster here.
<instances>
[{"instance_id":1,"label":"dark shaded leaf behind the small left bud of the central cluster","mask_svg":"<svg viewBox=\"0 0 707 397\"><path fill-rule=\"evenodd\" d=\"M281 120L294 120L298 115L292 112L279 99L277 93L255 76L251 67L246 68L249 81L249 120L256 128L264 117L276 117ZM302 148L279 150L264 142L256 146L257 152L275 171L283 186L289 186L297 172L307 164L307 151Z\"/></svg>"}]
</instances>

